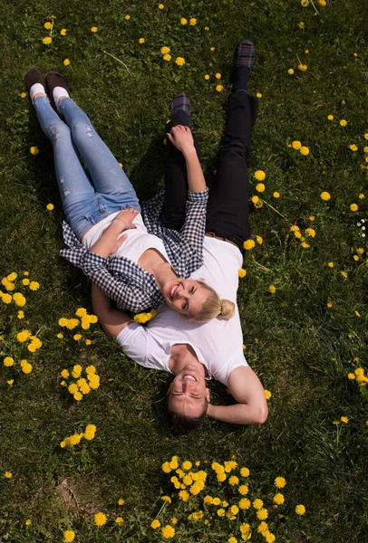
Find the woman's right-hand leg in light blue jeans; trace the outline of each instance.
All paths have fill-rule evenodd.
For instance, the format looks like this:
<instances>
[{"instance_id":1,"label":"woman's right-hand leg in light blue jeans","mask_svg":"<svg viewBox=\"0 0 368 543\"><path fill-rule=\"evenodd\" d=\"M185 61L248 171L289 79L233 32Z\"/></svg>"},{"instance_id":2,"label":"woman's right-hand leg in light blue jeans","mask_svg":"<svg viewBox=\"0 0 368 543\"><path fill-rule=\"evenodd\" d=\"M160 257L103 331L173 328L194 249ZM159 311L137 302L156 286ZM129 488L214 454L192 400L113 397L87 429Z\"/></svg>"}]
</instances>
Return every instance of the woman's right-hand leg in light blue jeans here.
<instances>
[{"instance_id":1,"label":"woman's right-hand leg in light blue jeans","mask_svg":"<svg viewBox=\"0 0 368 543\"><path fill-rule=\"evenodd\" d=\"M140 211L138 197L111 150L92 127L91 120L70 98L59 102L59 109L68 123L73 141L84 159L96 192L118 206Z\"/></svg>"}]
</instances>

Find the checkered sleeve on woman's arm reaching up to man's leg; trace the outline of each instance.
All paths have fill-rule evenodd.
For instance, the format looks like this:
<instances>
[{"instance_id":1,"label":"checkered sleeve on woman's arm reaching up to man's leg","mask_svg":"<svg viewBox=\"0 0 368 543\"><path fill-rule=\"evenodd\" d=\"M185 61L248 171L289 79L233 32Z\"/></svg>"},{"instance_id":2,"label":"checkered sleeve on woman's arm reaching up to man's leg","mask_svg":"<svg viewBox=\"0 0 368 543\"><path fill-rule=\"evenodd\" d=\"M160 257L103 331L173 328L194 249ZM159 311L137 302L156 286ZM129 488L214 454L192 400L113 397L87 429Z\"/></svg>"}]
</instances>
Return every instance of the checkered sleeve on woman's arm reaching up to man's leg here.
<instances>
[{"instance_id":1,"label":"checkered sleeve on woman's arm reaching up to man's leg","mask_svg":"<svg viewBox=\"0 0 368 543\"><path fill-rule=\"evenodd\" d=\"M207 202L208 189L198 193L188 192L185 223L180 231L201 259L206 230Z\"/></svg>"}]
</instances>

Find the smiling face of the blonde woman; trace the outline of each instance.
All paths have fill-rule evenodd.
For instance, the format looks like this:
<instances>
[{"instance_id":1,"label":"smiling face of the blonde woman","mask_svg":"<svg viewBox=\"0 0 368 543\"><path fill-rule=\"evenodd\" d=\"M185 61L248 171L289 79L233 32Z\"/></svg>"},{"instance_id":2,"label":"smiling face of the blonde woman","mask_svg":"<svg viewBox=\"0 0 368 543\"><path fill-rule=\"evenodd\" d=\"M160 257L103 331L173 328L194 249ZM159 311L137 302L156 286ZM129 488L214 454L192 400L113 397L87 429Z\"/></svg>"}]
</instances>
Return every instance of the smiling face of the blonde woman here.
<instances>
[{"instance_id":1,"label":"smiling face of the blonde woman","mask_svg":"<svg viewBox=\"0 0 368 543\"><path fill-rule=\"evenodd\" d=\"M162 293L169 307L186 317L198 315L208 300L208 290L193 279L168 281L164 284Z\"/></svg>"}]
</instances>

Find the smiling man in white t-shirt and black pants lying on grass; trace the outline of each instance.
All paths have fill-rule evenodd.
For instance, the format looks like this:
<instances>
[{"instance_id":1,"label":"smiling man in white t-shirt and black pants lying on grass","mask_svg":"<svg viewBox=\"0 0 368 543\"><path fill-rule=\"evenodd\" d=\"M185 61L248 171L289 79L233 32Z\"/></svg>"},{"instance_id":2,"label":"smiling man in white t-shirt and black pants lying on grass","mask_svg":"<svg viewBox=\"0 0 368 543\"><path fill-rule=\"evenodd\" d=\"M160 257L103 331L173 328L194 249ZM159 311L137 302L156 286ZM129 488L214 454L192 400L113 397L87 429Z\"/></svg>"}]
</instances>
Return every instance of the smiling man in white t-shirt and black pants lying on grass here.
<instances>
[{"instance_id":1,"label":"smiling man in white t-shirt and black pants lying on grass","mask_svg":"<svg viewBox=\"0 0 368 543\"><path fill-rule=\"evenodd\" d=\"M220 298L236 304L238 275L243 260L243 241L250 236L248 221L247 157L251 131L256 119L257 100L247 94L247 79L254 62L253 43L244 40L235 53L231 76L232 94L216 180L208 198L203 265L191 279L206 281ZM184 223L188 193L185 160L173 145L171 129L189 127L190 102L186 95L174 100L173 121L168 127L168 159L165 170L165 207L153 198L143 209L150 231L152 217L158 215L169 228L179 230ZM196 148L198 148L197 141ZM171 147L170 147L171 146ZM199 152L199 149L198 149ZM198 282L197 281L197 282ZM188 293L178 284L175 298L185 304ZM147 327L135 323L92 286L93 310L102 327L116 338L121 348L141 366L166 370L175 377L169 386L169 412L173 423L183 429L200 424L206 414L232 424L261 424L266 421L264 389L248 367L243 354L240 319L218 318L205 323L182 319L167 305L161 305ZM225 310L224 310L225 312ZM215 378L237 401L234 405L212 405L206 379Z\"/></svg>"}]
</instances>

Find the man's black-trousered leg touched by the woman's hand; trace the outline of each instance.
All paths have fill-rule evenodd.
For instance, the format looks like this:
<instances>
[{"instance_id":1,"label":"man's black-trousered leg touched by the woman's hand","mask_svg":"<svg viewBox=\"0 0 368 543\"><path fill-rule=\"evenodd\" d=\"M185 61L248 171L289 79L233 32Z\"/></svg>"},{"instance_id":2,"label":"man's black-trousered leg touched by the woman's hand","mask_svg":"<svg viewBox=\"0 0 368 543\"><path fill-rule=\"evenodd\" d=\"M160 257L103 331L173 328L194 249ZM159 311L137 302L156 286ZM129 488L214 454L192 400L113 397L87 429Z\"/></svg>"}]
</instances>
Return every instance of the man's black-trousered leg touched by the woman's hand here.
<instances>
[{"instance_id":1,"label":"man's black-trousered leg touched by the woman's hand","mask_svg":"<svg viewBox=\"0 0 368 543\"><path fill-rule=\"evenodd\" d=\"M182 98L176 97L173 101ZM188 97L186 99L189 102ZM174 118L166 125L166 132L169 132L177 125L190 126L190 106L189 114L185 110L175 110L172 108ZM167 139L167 154L165 159L165 225L172 230L180 230L185 220L185 206L188 197L188 176L185 158L181 151L177 149ZM200 148L197 138L193 135L194 146L200 160Z\"/></svg>"}]
</instances>

